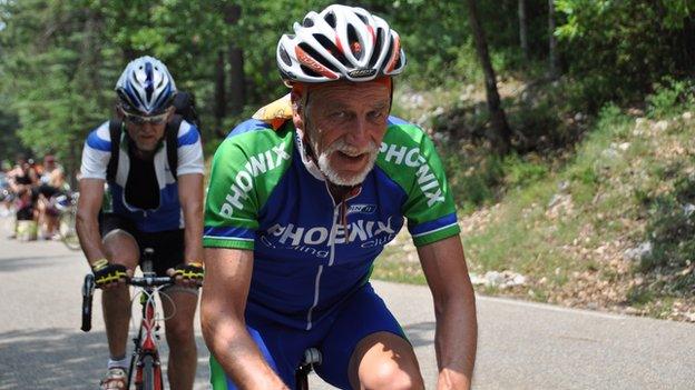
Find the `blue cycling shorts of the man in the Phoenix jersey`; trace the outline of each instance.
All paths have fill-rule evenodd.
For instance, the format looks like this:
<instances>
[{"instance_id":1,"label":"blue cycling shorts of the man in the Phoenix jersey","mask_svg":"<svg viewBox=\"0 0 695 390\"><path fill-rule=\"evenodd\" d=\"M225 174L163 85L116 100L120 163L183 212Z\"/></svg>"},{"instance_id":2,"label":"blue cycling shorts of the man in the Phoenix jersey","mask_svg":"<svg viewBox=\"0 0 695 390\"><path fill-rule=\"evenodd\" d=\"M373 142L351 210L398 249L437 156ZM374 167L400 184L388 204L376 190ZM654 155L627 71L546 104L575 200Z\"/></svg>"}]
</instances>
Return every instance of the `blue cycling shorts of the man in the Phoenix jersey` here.
<instances>
[{"instance_id":1,"label":"blue cycling shorts of the man in the Phoenix jersey","mask_svg":"<svg viewBox=\"0 0 695 390\"><path fill-rule=\"evenodd\" d=\"M348 366L363 338L385 331L405 339L402 328L370 283L355 291L342 303L342 308L309 331L251 316L246 316L246 328L265 360L291 389L296 388L295 370L309 348L316 348L323 357L321 366L315 367L319 377L336 388L350 389ZM214 390L236 389L213 356L211 382Z\"/></svg>"}]
</instances>

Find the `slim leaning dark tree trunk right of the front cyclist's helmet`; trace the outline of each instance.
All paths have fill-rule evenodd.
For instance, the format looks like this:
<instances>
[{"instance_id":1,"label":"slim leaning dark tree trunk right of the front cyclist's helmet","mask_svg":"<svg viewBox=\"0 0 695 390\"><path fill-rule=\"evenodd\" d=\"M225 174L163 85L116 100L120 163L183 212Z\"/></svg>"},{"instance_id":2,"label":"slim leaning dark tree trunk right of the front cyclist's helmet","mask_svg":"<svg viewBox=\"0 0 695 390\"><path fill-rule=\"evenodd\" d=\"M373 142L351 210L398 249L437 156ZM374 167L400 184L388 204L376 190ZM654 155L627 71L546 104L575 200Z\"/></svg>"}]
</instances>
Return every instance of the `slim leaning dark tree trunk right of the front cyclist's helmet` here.
<instances>
[{"instance_id":1,"label":"slim leaning dark tree trunk right of the front cyclist's helmet","mask_svg":"<svg viewBox=\"0 0 695 390\"><path fill-rule=\"evenodd\" d=\"M478 18L478 8L476 0L467 0L468 2L468 19L473 32L473 40L476 42L476 52L482 66L486 80L486 94L488 98L488 109L490 110L491 127L488 129L488 138L492 143L493 150L498 154L507 154L511 149L511 130L509 123L507 123L507 116L500 103L499 92L497 91L497 79L495 76L495 69L492 69L492 62L490 61L490 54L488 52L488 42L486 40L484 31L480 26L480 19Z\"/></svg>"}]
</instances>

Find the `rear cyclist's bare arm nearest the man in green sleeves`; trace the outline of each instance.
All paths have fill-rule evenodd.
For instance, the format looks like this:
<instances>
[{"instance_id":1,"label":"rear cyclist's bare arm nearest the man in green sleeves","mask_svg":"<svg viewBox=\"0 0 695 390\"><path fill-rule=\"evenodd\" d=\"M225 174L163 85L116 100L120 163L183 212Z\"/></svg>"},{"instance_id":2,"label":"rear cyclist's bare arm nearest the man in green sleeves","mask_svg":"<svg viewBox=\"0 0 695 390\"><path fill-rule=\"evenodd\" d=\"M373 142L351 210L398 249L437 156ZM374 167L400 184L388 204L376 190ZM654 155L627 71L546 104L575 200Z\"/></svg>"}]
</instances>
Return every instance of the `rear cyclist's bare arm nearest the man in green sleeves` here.
<instances>
[{"instance_id":1,"label":"rear cyclist's bare arm nearest the man in green sleeves","mask_svg":"<svg viewBox=\"0 0 695 390\"><path fill-rule=\"evenodd\" d=\"M203 174L178 177L178 199L186 226L186 263L203 261Z\"/></svg>"}]
</instances>

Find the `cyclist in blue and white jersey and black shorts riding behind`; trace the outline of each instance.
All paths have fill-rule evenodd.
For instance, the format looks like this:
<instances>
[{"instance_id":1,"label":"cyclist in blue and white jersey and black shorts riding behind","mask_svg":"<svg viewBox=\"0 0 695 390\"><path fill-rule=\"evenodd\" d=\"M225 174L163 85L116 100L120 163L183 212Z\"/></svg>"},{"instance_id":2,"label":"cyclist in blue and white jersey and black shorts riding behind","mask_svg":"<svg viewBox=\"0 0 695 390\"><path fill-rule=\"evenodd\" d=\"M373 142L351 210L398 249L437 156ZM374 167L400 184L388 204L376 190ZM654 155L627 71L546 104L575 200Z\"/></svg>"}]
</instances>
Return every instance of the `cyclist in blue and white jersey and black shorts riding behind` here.
<instances>
[{"instance_id":1,"label":"cyclist in blue and white jersey and black shorts riding behind","mask_svg":"<svg viewBox=\"0 0 695 390\"><path fill-rule=\"evenodd\" d=\"M176 276L176 286L163 291L170 298L163 300L170 349L167 372L172 389L192 389L197 362L195 283L203 277L200 137L185 120L178 128L167 124L176 84L159 60L133 60L116 92L120 118L91 131L85 142L77 211L82 250L104 289L110 356L101 389L126 384L130 297L125 281L145 248L155 250L159 276ZM168 140L176 142L175 149ZM168 150L176 151L174 159Z\"/></svg>"}]
</instances>

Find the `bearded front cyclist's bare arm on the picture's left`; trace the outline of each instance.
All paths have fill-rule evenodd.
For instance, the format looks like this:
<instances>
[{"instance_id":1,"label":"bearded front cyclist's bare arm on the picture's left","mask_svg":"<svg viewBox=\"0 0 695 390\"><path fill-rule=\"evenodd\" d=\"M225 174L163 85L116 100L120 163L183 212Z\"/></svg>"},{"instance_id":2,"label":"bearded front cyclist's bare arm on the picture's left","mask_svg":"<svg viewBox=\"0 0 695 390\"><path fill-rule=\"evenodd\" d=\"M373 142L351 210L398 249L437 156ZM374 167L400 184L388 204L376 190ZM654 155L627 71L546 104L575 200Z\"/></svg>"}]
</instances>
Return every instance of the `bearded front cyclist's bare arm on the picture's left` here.
<instances>
[{"instance_id":1,"label":"bearded front cyclist's bare arm on the picture's left","mask_svg":"<svg viewBox=\"0 0 695 390\"><path fill-rule=\"evenodd\" d=\"M252 269L252 251L205 249L206 276L200 301L203 337L237 388L287 389L246 330L244 310Z\"/></svg>"}]
</instances>

